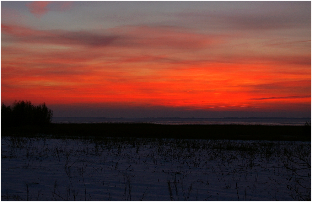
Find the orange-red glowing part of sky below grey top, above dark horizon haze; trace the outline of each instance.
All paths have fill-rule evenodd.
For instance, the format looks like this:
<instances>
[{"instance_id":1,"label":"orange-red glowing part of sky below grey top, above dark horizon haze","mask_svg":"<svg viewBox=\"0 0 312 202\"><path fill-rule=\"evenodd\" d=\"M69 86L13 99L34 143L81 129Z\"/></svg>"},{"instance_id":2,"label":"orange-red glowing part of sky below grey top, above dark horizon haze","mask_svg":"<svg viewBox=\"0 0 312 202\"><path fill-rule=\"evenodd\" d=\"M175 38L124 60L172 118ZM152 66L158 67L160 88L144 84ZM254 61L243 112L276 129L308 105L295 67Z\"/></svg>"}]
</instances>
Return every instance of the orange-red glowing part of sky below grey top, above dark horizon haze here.
<instances>
[{"instance_id":1,"label":"orange-red glowing part of sky below grey top, above dark horizon haze","mask_svg":"<svg viewBox=\"0 0 312 202\"><path fill-rule=\"evenodd\" d=\"M75 8L40 5L25 6L27 15L35 15L28 21ZM311 114L309 23L256 30L148 23L79 30L2 17L1 102Z\"/></svg>"}]
</instances>

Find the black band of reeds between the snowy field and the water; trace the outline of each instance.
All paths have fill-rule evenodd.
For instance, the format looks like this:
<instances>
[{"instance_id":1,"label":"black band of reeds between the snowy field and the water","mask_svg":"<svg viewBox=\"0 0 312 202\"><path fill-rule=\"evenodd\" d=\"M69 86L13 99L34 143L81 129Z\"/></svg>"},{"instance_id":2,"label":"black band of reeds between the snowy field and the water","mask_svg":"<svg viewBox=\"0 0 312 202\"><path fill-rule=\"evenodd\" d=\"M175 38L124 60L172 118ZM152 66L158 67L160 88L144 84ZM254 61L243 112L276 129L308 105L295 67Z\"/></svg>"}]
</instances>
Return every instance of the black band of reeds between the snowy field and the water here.
<instances>
[{"instance_id":1,"label":"black band of reeds between the snowy field and the water","mask_svg":"<svg viewBox=\"0 0 312 202\"><path fill-rule=\"evenodd\" d=\"M159 125L149 123L49 124L1 127L2 136L51 135L66 138L139 137L311 141L311 126Z\"/></svg>"}]
</instances>

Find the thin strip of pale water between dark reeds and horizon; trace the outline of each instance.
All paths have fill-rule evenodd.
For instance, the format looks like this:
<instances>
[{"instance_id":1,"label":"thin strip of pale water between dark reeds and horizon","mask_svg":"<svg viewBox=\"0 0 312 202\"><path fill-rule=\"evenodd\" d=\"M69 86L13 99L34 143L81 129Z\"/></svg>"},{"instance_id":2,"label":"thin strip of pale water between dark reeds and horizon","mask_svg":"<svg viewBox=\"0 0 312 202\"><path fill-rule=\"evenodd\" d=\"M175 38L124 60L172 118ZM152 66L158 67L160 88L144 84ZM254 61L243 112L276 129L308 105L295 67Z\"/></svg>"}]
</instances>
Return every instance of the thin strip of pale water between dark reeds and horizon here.
<instances>
[{"instance_id":1,"label":"thin strip of pale water between dark reeds and horizon","mask_svg":"<svg viewBox=\"0 0 312 202\"><path fill-rule=\"evenodd\" d=\"M104 118L53 117L52 123L155 123L155 124L249 124L304 125L311 118Z\"/></svg>"}]
</instances>

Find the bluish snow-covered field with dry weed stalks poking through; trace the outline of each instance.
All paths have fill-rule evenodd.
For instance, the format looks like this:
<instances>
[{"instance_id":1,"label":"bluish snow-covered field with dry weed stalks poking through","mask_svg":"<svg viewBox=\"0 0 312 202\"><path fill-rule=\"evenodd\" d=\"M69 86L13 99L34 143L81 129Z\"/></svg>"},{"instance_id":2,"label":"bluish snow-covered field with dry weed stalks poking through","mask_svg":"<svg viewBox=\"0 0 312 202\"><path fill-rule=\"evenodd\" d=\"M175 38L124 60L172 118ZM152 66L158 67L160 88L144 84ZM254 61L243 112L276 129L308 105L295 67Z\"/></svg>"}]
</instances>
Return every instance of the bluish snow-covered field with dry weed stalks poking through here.
<instances>
[{"instance_id":1,"label":"bluish snow-covered field with dry weed stalks poking through","mask_svg":"<svg viewBox=\"0 0 312 202\"><path fill-rule=\"evenodd\" d=\"M1 137L1 200L311 200L311 142Z\"/></svg>"}]
</instances>

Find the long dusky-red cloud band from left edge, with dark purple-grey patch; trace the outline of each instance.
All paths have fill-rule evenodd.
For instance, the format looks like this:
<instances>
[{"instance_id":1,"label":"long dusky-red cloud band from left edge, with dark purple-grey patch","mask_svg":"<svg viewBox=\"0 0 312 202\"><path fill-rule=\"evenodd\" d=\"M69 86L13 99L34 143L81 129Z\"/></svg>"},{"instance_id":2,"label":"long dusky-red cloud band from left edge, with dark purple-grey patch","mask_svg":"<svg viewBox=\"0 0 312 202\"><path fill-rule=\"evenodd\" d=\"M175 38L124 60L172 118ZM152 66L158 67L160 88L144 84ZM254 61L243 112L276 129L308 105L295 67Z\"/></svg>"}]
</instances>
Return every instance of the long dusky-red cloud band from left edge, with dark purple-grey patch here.
<instances>
[{"instance_id":1,"label":"long dusky-red cloud band from left edge, with dark purple-grey patch","mask_svg":"<svg viewBox=\"0 0 312 202\"><path fill-rule=\"evenodd\" d=\"M216 35L192 33L188 29L175 26L124 26L107 30L66 31L66 30L36 30L15 25L1 24L1 33L7 35L5 40L85 45L103 47L114 42L119 47L147 48L178 48L202 49L217 43L222 43Z\"/></svg>"}]
</instances>

